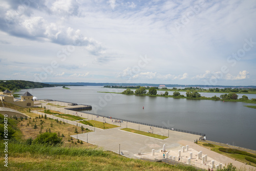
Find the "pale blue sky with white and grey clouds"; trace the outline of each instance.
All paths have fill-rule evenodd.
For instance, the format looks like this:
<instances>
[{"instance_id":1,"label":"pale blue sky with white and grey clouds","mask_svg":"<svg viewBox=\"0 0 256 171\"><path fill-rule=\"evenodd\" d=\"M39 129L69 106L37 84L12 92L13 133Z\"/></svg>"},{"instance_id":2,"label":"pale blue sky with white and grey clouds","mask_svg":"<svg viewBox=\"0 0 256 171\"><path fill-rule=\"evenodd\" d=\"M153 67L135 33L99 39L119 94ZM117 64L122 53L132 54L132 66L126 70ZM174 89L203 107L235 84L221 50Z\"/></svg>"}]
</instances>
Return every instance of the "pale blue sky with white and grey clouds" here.
<instances>
[{"instance_id":1,"label":"pale blue sky with white and grey clouds","mask_svg":"<svg viewBox=\"0 0 256 171\"><path fill-rule=\"evenodd\" d=\"M256 2L0 1L0 79L256 85Z\"/></svg>"}]
</instances>

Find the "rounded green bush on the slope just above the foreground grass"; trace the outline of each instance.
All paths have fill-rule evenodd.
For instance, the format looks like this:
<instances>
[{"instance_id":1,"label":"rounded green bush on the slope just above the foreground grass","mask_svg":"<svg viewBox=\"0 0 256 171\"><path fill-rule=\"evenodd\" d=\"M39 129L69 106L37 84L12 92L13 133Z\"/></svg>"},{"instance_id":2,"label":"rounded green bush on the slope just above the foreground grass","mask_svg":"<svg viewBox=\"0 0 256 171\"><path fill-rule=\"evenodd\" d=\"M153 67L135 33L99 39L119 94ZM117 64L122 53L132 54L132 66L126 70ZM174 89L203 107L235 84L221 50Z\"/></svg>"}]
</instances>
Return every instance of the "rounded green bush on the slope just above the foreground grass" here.
<instances>
[{"instance_id":1,"label":"rounded green bush on the slope just above the foreground grass","mask_svg":"<svg viewBox=\"0 0 256 171\"><path fill-rule=\"evenodd\" d=\"M56 133L42 133L32 141L33 144L45 144L45 145L61 145L63 141L57 136Z\"/></svg>"}]
</instances>

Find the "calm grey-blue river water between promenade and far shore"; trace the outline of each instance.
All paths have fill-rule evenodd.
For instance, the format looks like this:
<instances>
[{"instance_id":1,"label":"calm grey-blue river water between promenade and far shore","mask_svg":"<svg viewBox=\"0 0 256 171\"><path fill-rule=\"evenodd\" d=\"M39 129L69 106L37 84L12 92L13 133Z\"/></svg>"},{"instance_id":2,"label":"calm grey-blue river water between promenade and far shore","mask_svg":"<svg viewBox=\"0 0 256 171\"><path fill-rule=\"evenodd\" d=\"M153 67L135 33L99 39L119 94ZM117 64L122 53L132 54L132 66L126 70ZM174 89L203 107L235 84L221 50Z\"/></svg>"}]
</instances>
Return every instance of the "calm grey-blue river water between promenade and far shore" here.
<instances>
[{"instance_id":1,"label":"calm grey-blue river water between promenade and far shore","mask_svg":"<svg viewBox=\"0 0 256 171\"><path fill-rule=\"evenodd\" d=\"M244 106L255 104L98 93L124 91L102 87L69 88L28 89L19 94L28 91L38 99L89 104L95 114L204 133L208 140L256 150L256 109ZM223 93L200 94L212 97ZM255 94L246 96L256 98Z\"/></svg>"}]
</instances>

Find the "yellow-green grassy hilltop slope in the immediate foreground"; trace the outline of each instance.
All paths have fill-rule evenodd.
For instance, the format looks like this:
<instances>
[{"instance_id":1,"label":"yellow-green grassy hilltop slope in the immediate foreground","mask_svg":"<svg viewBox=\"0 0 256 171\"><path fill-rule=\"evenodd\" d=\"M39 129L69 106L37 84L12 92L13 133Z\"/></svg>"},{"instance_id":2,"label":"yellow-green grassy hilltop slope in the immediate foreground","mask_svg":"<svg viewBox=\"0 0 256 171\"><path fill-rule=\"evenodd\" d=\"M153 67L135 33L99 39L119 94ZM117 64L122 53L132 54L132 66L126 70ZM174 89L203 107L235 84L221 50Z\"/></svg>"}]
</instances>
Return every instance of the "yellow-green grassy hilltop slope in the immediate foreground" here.
<instances>
[{"instance_id":1,"label":"yellow-green grassy hilltop slope in the immediate foreground","mask_svg":"<svg viewBox=\"0 0 256 171\"><path fill-rule=\"evenodd\" d=\"M11 156L8 167L1 170L196 170L192 167L176 167L164 163L129 159L101 149L81 147L47 147L9 143ZM1 149L3 143L1 142ZM1 156L3 152L1 151ZM0 162L4 159L1 158Z\"/></svg>"}]
</instances>

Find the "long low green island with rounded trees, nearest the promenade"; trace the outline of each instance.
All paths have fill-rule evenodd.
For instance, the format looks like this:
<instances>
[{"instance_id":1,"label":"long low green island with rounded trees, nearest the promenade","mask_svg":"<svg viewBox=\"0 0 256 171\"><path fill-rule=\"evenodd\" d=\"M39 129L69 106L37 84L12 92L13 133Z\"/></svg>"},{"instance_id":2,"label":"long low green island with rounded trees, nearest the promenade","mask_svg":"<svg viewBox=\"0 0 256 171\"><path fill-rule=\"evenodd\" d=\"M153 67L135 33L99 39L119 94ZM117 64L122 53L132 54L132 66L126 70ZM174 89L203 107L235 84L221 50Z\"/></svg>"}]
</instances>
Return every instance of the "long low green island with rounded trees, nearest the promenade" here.
<instances>
[{"instance_id":1,"label":"long low green island with rounded trees, nearest the promenade","mask_svg":"<svg viewBox=\"0 0 256 171\"><path fill-rule=\"evenodd\" d=\"M113 92L99 92L99 93L113 93ZM116 93L116 92L114 92ZM126 89L122 93L116 93L116 94L125 94L125 95L137 95L137 96L152 96L152 97L173 97L173 98L186 98L186 99L195 99L195 100L222 100L222 101L233 101L233 102L246 102L246 103L256 103L255 98L248 99L247 96L243 95L242 98L238 99L238 95L234 92L230 92L228 94L222 94L220 97L212 96L212 97L205 97L201 96L201 94L193 90L191 91L186 90L186 96L181 95L180 92L175 91L173 95L168 95L168 91L165 91L165 93L157 94L157 89L155 87L151 87L148 89L148 92L146 91L145 87L139 87L139 89L136 89L135 92L131 89Z\"/></svg>"}]
</instances>

